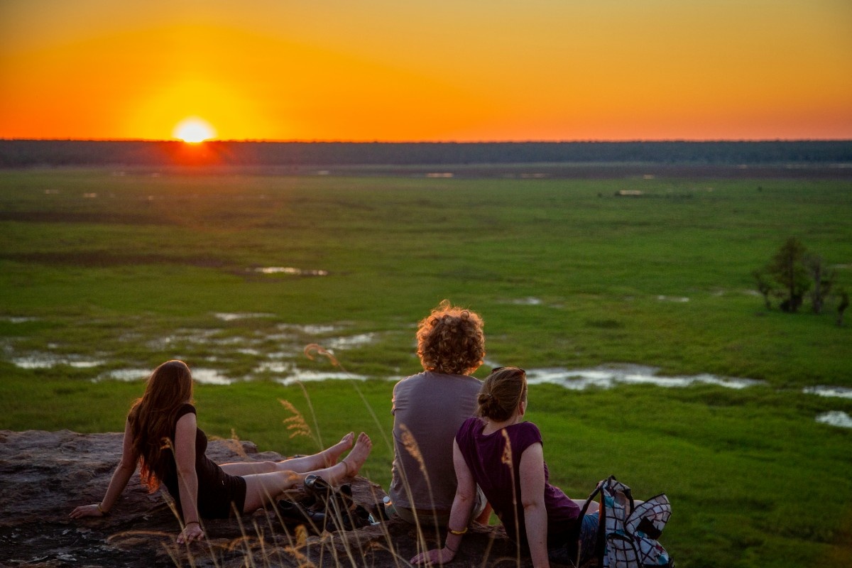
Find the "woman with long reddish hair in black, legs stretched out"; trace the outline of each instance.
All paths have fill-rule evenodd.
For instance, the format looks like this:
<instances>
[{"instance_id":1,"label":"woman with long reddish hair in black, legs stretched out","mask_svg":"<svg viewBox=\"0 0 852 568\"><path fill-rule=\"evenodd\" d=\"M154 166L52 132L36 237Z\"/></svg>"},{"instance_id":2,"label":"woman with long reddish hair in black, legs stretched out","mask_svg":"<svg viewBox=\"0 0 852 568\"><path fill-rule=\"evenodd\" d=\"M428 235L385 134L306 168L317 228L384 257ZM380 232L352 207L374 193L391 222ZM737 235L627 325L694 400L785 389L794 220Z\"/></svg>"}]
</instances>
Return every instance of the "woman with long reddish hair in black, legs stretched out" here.
<instances>
[{"instance_id":1,"label":"woman with long reddish hair in black, legs stretched out","mask_svg":"<svg viewBox=\"0 0 852 568\"><path fill-rule=\"evenodd\" d=\"M106 495L100 503L75 508L71 517L101 517L109 513L138 466L142 483L149 491L156 491L163 484L175 499L182 519L177 542L192 542L204 537L202 518L224 519L256 511L312 473L332 485L358 473L371 447L366 433L360 433L357 441L354 433L348 433L337 444L313 456L283 462L217 465L204 454L207 436L197 426L189 367L183 361L171 360L153 371L145 393L130 408L121 460L112 473ZM341 460L343 452L350 449Z\"/></svg>"}]
</instances>

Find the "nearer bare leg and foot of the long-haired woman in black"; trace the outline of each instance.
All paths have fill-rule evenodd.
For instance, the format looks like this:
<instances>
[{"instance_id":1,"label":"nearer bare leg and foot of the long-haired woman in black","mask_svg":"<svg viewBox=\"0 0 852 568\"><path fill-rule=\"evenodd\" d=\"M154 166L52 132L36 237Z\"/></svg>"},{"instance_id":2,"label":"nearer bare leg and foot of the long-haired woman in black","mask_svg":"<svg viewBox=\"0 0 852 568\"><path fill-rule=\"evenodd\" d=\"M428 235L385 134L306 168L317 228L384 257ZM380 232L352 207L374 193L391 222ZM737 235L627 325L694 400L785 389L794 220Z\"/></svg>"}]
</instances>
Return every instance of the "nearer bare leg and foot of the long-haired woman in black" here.
<instances>
[{"instance_id":1,"label":"nearer bare leg and foot of the long-haired woman in black","mask_svg":"<svg viewBox=\"0 0 852 568\"><path fill-rule=\"evenodd\" d=\"M341 462L329 468L311 472L295 472L279 470L270 473L245 475L245 506L244 513L252 513L261 508L264 503L274 502L285 491L294 489L303 483L308 475L319 475L331 485L337 485L341 480L351 477L360 471L361 466L370 455L372 441L366 433L360 433L358 441L349 455ZM286 462L281 462L286 463Z\"/></svg>"}]
</instances>

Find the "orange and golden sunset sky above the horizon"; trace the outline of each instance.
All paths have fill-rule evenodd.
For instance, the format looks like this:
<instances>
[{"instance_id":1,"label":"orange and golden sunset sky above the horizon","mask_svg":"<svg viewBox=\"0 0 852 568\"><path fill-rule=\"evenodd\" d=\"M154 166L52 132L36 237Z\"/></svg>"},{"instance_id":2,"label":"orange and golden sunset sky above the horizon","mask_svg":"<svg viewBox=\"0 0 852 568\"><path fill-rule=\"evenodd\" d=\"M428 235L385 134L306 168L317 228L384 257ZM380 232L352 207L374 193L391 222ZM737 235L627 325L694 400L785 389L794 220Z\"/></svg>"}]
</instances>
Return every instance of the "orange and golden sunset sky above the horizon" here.
<instances>
[{"instance_id":1,"label":"orange and golden sunset sky above the horizon","mask_svg":"<svg viewBox=\"0 0 852 568\"><path fill-rule=\"evenodd\" d=\"M849 0L0 0L0 138L852 139Z\"/></svg>"}]
</instances>

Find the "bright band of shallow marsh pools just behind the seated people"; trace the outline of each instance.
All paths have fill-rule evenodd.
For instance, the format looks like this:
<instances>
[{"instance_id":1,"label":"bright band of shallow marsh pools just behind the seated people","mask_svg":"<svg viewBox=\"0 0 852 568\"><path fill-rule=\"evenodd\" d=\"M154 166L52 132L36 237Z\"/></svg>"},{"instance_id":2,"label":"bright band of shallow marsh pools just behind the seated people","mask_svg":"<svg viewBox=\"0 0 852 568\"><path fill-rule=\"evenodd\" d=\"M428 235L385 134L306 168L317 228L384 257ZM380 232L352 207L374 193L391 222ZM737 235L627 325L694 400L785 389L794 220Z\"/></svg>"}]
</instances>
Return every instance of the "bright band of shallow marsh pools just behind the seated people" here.
<instances>
[{"instance_id":1,"label":"bright band of shallow marsh pools just behind the seated people","mask_svg":"<svg viewBox=\"0 0 852 568\"><path fill-rule=\"evenodd\" d=\"M527 299L525 301L532 301ZM221 322L234 322L250 318L272 318L268 313L214 313L213 316ZM11 324L32 322L35 318L3 318ZM305 338L314 338L313 345L325 349L335 358L334 353L343 353L354 347L362 347L377 341L378 333L347 333L345 324L277 324L276 332L263 333L263 340L273 340L276 350L268 350L264 341L251 336L220 336L222 330L204 329L176 330L169 336L149 340L155 347L187 345L208 346L216 348L216 355L206 355L196 359L193 364L193 378L206 385L230 385L236 382L270 379L282 385L289 386L299 382L322 382L335 380L366 381L379 379L396 382L403 376L365 376L348 372L336 364L335 370L314 370L305 368ZM4 353L10 363L22 369L51 369L66 365L76 370L90 374L92 382L101 381L142 381L151 372L142 367L115 368L110 353L99 352L96 357L86 353L57 353L50 344L42 351L22 351L7 342ZM225 370L227 361L233 356L245 356L256 359L253 368L241 375L232 376ZM486 360L486 367L497 367L502 362ZM642 364L602 364L596 367L568 369L550 367L543 369L528 369L527 380L530 384L554 384L567 389L583 390L587 388L616 388L633 385L653 385L661 388L685 388L693 385L713 385L716 387L741 390L765 385L765 382L747 378L716 376L701 373L693 376L665 376L659 374L659 369ZM805 396L819 396L826 399L852 399L852 388L831 385L804 387ZM840 410L826 410L815 416L817 422L823 422L835 427L852 428L852 416Z\"/></svg>"}]
</instances>

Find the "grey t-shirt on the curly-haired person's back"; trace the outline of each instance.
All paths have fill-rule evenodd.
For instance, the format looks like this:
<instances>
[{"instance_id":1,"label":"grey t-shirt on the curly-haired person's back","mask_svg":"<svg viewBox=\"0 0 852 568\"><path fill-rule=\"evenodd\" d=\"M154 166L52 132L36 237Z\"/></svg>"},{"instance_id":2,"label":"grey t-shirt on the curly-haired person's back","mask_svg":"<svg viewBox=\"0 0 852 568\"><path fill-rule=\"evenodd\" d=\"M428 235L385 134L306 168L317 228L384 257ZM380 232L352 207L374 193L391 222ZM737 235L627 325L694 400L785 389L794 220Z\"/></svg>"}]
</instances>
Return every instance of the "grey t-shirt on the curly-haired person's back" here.
<instances>
[{"instance_id":1,"label":"grey t-shirt on the curly-haired person's back","mask_svg":"<svg viewBox=\"0 0 852 568\"><path fill-rule=\"evenodd\" d=\"M406 508L449 512L456 495L452 440L476 411L481 382L472 376L425 371L394 386L394 464L389 496ZM406 449L404 432L413 444ZM429 479L423 476L419 453ZM406 480L408 488L406 489Z\"/></svg>"}]
</instances>

